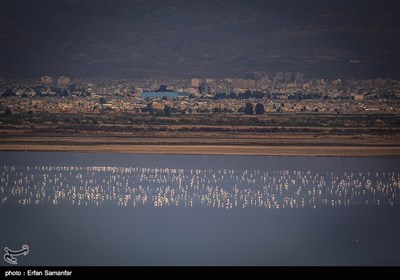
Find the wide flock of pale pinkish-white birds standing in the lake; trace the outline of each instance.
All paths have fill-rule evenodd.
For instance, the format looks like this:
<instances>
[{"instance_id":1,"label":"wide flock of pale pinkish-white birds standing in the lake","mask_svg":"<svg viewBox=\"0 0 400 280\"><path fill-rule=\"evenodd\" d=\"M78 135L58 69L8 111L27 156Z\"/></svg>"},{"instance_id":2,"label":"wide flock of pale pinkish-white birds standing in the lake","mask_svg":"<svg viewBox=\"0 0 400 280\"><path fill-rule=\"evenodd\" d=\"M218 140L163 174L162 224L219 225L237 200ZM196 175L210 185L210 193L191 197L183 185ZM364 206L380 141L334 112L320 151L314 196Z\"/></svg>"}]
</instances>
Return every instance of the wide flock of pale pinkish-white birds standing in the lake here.
<instances>
[{"instance_id":1,"label":"wide flock of pale pinkish-white birds standing in the lake","mask_svg":"<svg viewBox=\"0 0 400 280\"><path fill-rule=\"evenodd\" d=\"M1 203L126 207L398 206L400 172L2 166Z\"/></svg>"}]
</instances>

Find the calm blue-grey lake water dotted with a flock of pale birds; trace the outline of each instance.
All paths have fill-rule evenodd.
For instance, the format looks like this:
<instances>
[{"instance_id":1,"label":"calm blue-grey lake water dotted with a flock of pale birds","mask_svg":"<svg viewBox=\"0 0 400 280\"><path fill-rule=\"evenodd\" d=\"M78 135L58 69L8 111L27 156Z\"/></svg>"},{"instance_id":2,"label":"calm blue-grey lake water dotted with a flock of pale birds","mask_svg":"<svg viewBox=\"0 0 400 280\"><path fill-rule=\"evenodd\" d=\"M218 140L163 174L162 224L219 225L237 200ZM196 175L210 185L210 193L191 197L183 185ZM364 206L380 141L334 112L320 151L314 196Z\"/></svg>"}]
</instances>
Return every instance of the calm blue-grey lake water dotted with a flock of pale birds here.
<instances>
[{"instance_id":1,"label":"calm blue-grey lake water dotted with a flock of pale birds","mask_svg":"<svg viewBox=\"0 0 400 280\"><path fill-rule=\"evenodd\" d=\"M19 265L400 265L399 166L0 152L0 245L29 246Z\"/></svg>"}]
</instances>

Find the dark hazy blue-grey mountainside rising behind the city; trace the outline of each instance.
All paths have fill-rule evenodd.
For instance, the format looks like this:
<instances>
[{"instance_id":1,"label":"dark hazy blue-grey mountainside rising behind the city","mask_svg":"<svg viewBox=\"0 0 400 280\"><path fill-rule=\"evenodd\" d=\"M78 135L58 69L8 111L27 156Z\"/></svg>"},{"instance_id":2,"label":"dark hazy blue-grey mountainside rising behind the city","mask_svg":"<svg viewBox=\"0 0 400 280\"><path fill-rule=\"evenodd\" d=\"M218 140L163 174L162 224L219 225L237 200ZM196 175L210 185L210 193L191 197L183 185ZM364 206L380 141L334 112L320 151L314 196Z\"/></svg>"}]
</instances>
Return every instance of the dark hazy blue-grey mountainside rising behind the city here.
<instances>
[{"instance_id":1,"label":"dark hazy blue-grey mountainside rising behind the city","mask_svg":"<svg viewBox=\"0 0 400 280\"><path fill-rule=\"evenodd\" d=\"M398 77L399 1L1 1L3 76Z\"/></svg>"}]
</instances>

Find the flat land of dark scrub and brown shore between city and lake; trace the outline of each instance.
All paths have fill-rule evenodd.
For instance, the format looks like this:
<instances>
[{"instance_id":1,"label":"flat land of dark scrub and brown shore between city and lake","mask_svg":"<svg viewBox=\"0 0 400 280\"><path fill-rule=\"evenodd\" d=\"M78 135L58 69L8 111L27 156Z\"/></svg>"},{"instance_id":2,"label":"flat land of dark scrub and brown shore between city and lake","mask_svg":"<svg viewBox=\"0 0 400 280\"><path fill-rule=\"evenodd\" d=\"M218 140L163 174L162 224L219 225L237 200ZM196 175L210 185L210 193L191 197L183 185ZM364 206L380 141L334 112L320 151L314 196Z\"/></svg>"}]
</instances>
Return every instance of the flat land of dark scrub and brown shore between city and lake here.
<instances>
[{"instance_id":1,"label":"flat land of dark scrub and brown shore between city and lake","mask_svg":"<svg viewBox=\"0 0 400 280\"><path fill-rule=\"evenodd\" d=\"M399 123L393 114L13 115L0 121L0 151L400 157Z\"/></svg>"}]
</instances>

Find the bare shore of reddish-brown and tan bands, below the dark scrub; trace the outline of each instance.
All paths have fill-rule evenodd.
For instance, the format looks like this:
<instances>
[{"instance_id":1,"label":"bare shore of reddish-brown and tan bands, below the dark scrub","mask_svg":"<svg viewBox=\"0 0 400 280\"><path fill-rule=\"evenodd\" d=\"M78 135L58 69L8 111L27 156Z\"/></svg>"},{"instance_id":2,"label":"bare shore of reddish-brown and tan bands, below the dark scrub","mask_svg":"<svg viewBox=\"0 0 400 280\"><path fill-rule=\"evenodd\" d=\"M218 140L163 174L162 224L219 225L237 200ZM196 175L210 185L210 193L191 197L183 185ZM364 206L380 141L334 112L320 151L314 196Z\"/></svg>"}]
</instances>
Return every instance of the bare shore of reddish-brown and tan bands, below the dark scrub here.
<instances>
[{"instance_id":1,"label":"bare shore of reddish-brown and tan bands, below the dark scrub","mask_svg":"<svg viewBox=\"0 0 400 280\"><path fill-rule=\"evenodd\" d=\"M400 157L400 137L315 134L0 134L0 151L243 155L302 157Z\"/></svg>"}]
</instances>

